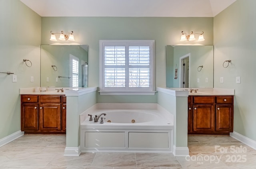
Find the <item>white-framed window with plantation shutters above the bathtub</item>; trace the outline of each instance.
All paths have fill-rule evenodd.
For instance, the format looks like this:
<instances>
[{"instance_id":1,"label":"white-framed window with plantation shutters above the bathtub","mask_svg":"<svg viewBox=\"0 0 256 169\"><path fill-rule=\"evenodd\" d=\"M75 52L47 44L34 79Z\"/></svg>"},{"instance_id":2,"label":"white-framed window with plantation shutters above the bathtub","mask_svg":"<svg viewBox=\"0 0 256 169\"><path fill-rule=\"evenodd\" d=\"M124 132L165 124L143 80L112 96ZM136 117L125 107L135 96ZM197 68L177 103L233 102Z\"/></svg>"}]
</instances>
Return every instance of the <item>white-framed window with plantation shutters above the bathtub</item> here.
<instances>
[{"instance_id":1,"label":"white-framed window with plantation shutters above the bathtub","mask_svg":"<svg viewBox=\"0 0 256 169\"><path fill-rule=\"evenodd\" d=\"M154 40L101 40L100 92L154 94Z\"/></svg>"}]
</instances>

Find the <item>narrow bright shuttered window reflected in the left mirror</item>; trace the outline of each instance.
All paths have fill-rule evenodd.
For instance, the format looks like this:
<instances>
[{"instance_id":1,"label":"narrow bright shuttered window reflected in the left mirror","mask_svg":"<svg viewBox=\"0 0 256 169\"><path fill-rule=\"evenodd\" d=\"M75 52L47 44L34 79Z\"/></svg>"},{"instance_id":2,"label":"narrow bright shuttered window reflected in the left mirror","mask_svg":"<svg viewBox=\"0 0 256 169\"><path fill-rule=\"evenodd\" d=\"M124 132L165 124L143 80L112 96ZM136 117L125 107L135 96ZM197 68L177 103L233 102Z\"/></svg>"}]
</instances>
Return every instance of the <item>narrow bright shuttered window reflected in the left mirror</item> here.
<instances>
[{"instance_id":1,"label":"narrow bright shuttered window reflected in the left mirror","mask_svg":"<svg viewBox=\"0 0 256 169\"><path fill-rule=\"evenodd\" d=\"M78 57L75 57L74 55L70 54L70 76L72 79L70 79L70 86L72 87L78 87L78 72L79 72L79 59Z\"/></svg>"}]
</instances>

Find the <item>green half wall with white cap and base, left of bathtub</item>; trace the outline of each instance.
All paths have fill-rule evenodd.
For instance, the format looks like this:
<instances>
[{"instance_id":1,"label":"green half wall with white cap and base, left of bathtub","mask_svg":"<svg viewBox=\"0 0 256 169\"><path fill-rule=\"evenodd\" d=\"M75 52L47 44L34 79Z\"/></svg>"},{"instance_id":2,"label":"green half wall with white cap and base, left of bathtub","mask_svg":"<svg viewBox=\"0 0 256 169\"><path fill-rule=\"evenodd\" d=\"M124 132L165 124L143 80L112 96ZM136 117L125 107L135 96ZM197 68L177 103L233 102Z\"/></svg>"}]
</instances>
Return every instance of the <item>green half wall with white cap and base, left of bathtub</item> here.
<instances>
[{"instance_id":1,"label":"green half wall with white cap and base, left of bathtub","mask_svg":"<svg viewBox=\"0 0 256 169\"><path fill-rule=\"evenodd\" d=\"M65 91L67 97L66 106L66 148L64 156L79 156L80 134L79 115L96 104L97 87L78 88Z\"/></svg>"}]
</instances>

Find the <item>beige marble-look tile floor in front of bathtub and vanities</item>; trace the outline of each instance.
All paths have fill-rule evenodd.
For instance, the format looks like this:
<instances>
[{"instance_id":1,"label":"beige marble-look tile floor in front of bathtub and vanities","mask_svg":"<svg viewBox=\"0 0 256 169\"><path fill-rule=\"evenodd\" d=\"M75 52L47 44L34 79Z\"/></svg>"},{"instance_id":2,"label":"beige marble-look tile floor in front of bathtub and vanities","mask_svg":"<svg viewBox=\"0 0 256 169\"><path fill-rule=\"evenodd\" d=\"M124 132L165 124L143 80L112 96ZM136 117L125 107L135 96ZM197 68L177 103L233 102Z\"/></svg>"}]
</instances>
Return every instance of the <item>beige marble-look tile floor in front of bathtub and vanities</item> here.
<instances>
[{"instance_id":1,"label":"beige marble-look tile floor in front of bathtub and vanities","mask_svg":"<svg viewBox=\"0 0 256 169\"><path fill-rule=\"evenodd\" d=\"M188 136L190 157L82 153L64 157L65 135L24 135L0 147L0 169L256 169L256 150L229 136Z\"/></svg>"}]
</instances>

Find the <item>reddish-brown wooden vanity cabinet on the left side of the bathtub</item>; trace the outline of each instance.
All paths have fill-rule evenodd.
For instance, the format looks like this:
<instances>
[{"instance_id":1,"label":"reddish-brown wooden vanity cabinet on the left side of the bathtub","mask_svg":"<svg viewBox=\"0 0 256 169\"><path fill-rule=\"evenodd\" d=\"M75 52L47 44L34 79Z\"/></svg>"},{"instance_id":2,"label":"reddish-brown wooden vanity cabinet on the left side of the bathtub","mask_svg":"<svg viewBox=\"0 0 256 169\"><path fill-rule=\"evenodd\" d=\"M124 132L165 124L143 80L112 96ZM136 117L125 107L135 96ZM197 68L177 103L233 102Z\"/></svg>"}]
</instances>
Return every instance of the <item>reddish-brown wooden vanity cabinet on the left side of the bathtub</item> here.
<instances>
[{"instance_id":1,"label":"reddish-brown wooden vanity cabinet on the left side of the bathtub","mask_svg":"<svg viewBox=\"0 0 256 169\"><path fill-rule=\"evenodd\" d=\"M30 134L65 134L64 100L63 95L21 95L21 130Z\"/></svg>"}]
</instances>

